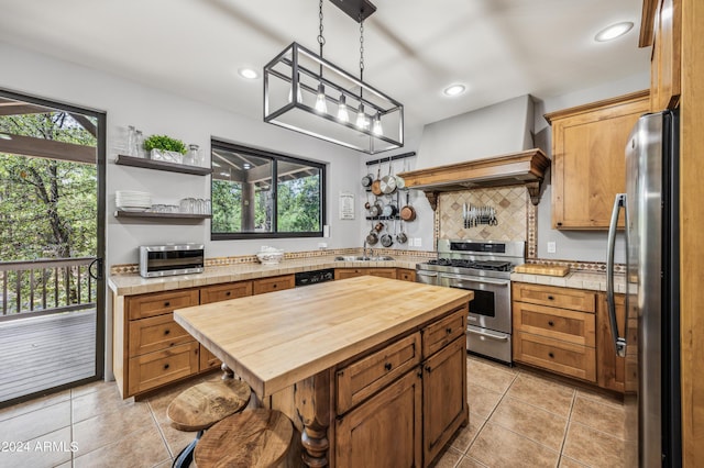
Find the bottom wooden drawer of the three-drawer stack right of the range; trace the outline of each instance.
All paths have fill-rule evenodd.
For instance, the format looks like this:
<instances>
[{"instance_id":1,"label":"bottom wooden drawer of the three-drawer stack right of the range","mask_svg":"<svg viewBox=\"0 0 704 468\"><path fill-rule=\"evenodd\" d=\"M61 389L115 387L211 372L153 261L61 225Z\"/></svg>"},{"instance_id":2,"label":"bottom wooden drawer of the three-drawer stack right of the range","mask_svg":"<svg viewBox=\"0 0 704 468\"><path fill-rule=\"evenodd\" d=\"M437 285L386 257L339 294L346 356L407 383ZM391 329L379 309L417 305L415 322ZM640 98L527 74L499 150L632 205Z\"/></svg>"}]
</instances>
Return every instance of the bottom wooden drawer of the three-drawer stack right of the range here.
<instances>
[{"instance_id":1,"label":"bottom wooden drawer of the three-drawer stack right of the range","mask_svg":"<svg viewBox=\"0 0 704 468\"><path fill-rule=\"evenodd\" d=\"M514 360L596 381L596 353L592 347L518 332L514 334Z\"/></svg>"}]
</instances>

